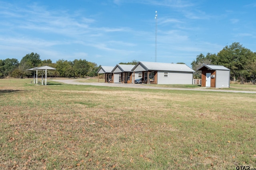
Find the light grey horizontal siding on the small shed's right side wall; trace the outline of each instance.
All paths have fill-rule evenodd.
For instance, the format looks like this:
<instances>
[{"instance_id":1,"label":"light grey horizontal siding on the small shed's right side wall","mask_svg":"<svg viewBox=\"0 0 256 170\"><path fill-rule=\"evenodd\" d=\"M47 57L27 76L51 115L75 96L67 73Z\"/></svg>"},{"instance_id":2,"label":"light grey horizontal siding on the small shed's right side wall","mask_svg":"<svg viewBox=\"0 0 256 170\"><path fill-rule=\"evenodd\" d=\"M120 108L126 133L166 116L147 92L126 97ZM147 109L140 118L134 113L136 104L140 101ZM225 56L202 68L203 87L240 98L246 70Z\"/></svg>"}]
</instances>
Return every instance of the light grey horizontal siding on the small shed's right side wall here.
<instances>
[{"instance_id":1,"label":"light grey horizontal siding on the small shed's right side wall","mask_svg":"<svg viewBox=\"0 0 256 170\"><path fill-rule=\"evenodd\" d=\"M216 70L216 88L229 87L230 71Z\"/></svg>"}]
</instances>

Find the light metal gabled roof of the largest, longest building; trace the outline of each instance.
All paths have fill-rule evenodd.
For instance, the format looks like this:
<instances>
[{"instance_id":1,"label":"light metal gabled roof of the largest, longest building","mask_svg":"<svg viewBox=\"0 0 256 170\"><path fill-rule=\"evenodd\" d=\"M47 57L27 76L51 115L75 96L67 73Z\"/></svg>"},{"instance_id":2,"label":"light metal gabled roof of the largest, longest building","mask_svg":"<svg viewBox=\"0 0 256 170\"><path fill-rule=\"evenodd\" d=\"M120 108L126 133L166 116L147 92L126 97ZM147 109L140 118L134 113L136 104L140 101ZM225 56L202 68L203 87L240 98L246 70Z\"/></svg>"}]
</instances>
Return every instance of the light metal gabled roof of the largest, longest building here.
<instances>
[{"instance_id":1,"label":"light metal gabled roof of the largest, longest building","mask_svg":"<svg viewBox=\"0 0 256 170\"><path fill-rule=\"evenodd\" d=\"M145 70L161 70L161 71L179 71L179 72L195 72L186 64L174 64L174 63L153 63L153 62L138 62L132 70L138 65L141 65Z\"/></svg>"}]
</instances>

